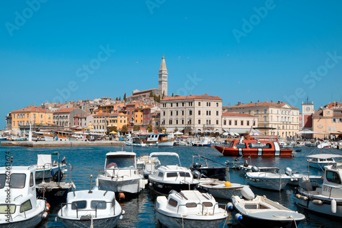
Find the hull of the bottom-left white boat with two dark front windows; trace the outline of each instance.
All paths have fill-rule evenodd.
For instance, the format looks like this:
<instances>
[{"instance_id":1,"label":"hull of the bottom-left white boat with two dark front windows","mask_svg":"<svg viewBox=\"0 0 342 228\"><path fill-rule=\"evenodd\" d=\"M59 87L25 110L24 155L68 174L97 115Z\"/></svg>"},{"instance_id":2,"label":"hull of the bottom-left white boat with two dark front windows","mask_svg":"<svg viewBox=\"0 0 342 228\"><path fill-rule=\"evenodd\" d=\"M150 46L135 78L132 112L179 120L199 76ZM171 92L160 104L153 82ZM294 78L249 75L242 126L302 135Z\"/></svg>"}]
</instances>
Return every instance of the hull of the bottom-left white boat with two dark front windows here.
<instances>
[{"instance_id":1,"label":"hull of the bottom-left white boat with two dark front windows","mask_svg":"<svg viewBox=\"0 0 342 228\"><path fill-rule=\"evenodd\" d=\"M58 216L58 218L62 221L65 227L75 227L75 228L88 228L91 227L91 223L93 223L94 228L112 228L116 227L119 222L121 214L114 217L107 218L93 218L91 220L79 220L79 219L68 219L64 217Z\"/></svg>"}]
</instances>

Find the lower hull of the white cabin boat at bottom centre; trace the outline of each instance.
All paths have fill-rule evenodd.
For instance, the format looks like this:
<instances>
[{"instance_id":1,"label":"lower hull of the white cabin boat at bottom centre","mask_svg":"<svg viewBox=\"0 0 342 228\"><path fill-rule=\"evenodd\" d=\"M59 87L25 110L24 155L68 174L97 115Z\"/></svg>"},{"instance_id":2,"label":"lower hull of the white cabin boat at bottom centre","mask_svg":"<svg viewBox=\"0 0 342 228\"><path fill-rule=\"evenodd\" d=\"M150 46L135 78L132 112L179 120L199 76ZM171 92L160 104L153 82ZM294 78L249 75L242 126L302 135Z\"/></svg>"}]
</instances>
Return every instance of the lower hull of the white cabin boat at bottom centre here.
<instances>
[{"instance_id":1,"label":"lower hull of the white cabin boat at bottom centre","mask_svg":"<svg viewBox=\"0 0 342 228\"><path fill-rule=\"evenodd\" d=\"M161 224L168 228L183 228L183 227L220 227L225 218L220 218L216 220L209 219L188 219L188 218L177 218L172 216L166 216L157 210L157 217Z\"/></svg>"}]
</instances>

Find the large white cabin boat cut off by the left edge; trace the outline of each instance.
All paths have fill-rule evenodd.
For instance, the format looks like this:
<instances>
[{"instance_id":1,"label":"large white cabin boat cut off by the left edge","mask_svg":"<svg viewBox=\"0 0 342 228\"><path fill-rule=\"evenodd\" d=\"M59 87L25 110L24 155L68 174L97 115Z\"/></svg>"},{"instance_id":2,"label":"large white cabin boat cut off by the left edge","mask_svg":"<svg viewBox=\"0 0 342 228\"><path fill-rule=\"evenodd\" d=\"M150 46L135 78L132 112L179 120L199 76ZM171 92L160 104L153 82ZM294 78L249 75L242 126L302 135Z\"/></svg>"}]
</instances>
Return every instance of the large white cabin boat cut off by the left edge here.
<instances>
[{"instance_id":1,"label":"large white cabin boat cut off by the left edge","mask_svg":"<svg viewBox=\"0 0 342 228\"><path fill-rule=\"evenodd\" d=\"M0 227L36 227L47 216L45 201L36 197L35 174L34 166L0 168Z\"/></svg>"}]
</instances>

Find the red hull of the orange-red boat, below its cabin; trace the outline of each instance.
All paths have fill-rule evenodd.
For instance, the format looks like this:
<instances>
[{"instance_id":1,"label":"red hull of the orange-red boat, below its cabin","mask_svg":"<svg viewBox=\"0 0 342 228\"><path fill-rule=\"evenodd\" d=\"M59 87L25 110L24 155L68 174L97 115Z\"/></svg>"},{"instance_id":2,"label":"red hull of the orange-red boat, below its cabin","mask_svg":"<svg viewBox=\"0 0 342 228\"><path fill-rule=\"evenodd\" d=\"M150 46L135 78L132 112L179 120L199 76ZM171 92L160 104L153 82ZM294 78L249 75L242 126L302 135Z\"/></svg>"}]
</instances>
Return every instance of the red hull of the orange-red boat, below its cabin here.
<instances>
[{"instance_id":1,"label":"red hull of the orange-red boat, below its cabin","mask_svg":"<svg viewBox=\"0 0 342 228\"><path fill-rule=\"evenodd\" d=\"M291 157L292 151L291 149L241 149L241 148L233 148L233 147L218 147L211 146L224 156L263 156L263 157Z\"/></svg>"}]
</instances>

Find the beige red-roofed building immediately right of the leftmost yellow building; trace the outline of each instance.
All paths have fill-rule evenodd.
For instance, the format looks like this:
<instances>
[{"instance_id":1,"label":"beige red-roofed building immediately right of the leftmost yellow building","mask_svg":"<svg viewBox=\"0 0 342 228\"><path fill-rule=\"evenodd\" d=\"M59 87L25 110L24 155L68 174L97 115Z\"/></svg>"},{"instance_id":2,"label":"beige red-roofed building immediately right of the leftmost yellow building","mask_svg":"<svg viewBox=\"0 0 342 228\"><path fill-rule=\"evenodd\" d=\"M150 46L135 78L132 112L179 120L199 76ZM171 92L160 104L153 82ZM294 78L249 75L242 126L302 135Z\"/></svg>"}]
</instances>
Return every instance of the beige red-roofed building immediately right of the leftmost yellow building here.
<instances>
[{"instance_id":1,"label":"beige red-roofed building immediately right of the leftmost yellow building","mask_svg":"<svg viewBox=\"0 0 342 228\"><path fill-rule=\"evenodd\" d=\"M86 112L78 107L60 108L53 112L53 123L57 126L70 129L74 124L74 116L81 114L86 114Z\"/></svg>"}]
</instances>

